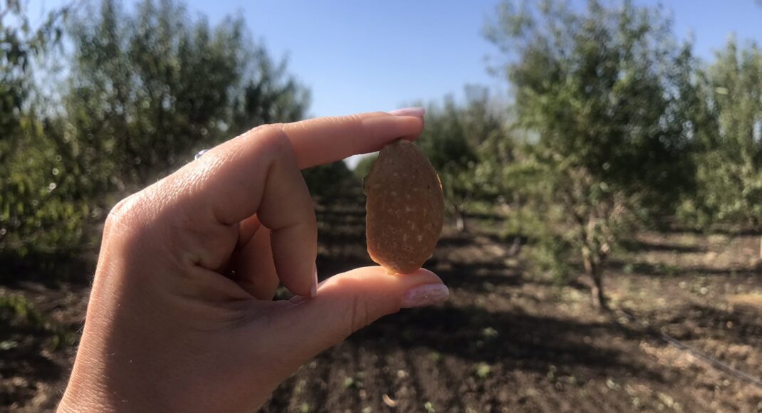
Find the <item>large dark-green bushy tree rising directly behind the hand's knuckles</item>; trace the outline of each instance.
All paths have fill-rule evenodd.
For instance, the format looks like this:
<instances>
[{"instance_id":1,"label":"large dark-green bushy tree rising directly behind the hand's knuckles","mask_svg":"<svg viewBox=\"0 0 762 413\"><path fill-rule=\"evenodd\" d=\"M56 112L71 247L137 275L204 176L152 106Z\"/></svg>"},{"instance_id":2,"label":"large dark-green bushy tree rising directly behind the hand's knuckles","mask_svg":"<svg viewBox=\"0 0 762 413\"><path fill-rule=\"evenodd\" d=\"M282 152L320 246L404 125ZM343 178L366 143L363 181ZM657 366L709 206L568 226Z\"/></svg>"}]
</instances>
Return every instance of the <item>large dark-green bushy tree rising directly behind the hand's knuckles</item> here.
<instances>
[{"instance_id":1,"label":"large dark-green bushy tree rising directly behind the hand's knuckles","mask_svg":"<svg viewBox=\"0 0 762 413\"><path fill-rule=\"evenodd\" d=\"M97 172L91 193L134 190L231 135L303 117L306 89L242 19L210 27L172 0L89 7L70 27L64 104L78 168Z\"/></svg>"}]
</instances>

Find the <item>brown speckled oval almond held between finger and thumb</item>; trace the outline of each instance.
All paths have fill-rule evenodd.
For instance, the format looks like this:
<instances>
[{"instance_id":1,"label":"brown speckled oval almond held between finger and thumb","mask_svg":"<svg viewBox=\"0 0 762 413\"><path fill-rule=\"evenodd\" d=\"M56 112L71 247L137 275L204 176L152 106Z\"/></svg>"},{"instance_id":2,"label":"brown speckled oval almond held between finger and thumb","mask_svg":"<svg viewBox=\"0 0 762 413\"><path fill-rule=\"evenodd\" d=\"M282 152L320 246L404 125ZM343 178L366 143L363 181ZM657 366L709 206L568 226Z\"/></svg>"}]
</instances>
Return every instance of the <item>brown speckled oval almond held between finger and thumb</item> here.
<instances>
[{"instance_id":1,"label":"brown speckled oval almond held between finger and thumb","mask_svg":"<svg viewBox=\"0 0 762 413\"><path fill-rule=\"evenodd\" d=\"M368 254L390 274L431 258L442 232L442 184L417 146L397 140L379 152L364 182Z\"/></svg>"}]
</instances>

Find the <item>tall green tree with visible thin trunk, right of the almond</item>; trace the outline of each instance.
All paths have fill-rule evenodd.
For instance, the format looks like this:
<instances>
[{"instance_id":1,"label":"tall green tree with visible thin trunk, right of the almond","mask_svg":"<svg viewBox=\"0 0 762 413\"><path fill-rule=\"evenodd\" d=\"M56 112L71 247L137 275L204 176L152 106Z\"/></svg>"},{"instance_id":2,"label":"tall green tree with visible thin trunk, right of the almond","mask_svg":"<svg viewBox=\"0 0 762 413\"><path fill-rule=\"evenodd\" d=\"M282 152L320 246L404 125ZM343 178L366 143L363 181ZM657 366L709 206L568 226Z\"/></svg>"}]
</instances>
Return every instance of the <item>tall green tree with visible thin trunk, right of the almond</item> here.
<instances>
[{"instance_id":1,"label":"tall green tree with visible thin trunk, right of the almond","mask_svg":"<svg viewBox=\"0 0 762 413\"><path fill-rule=\"evenodd\" d=\"M604 268L631 223L690 186L690 44L661 8L503 2L486 35L510 62L517 126L537 164L539 204L574 245L602 309Z\"/></svg>"}]
</instances>

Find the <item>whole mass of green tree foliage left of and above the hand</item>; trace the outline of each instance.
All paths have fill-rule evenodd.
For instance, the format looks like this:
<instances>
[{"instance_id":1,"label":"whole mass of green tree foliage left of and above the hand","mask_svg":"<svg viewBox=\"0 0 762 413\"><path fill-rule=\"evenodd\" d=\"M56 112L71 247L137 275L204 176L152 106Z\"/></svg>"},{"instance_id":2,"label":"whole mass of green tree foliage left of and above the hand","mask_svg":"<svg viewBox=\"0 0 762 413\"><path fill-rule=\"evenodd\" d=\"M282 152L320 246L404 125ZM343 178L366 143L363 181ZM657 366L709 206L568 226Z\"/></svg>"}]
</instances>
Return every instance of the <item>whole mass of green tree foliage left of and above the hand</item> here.
<instances>
[{"instance_id":1,"label":"whole mass of green tree foliage left of and above the hand","mask_svg":"<svg viewBox=\"0 0 762 413\"><path fill-rule=\"evenodd\" d=\"M129 12L103 0L33 30L21 4L0 11L0 249L70 247L88 219L199 149L305 115L309 93L241 18L211 27L171 0ZM52 74L33 63L62 34L68 79L38 85Z\"/></svg>"}]
</instances>

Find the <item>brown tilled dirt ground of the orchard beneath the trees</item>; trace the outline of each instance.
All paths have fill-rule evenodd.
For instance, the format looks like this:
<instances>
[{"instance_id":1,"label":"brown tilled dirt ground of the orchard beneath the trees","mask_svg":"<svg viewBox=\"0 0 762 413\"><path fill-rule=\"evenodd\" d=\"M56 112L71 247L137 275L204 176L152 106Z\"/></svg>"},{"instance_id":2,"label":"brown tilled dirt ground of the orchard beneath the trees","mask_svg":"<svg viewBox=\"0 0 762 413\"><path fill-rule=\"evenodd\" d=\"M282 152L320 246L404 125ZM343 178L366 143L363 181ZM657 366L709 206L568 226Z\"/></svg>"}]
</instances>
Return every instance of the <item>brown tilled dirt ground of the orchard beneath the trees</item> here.
<instances>
[{"instance_id":1,"label":"brown tilled dirt ground of the orchard beneath the trees","mask_svg":"<svg viewBox=\"0 0 762 413\"><path fill-rule=\"evenodd\" d=\"M370 264L361 202L319 208L321 277ZM762 387L660 335L762 376L758 237L644 232L610 266L616 311L604 315L584 280L560 287L527 274L495 225L472 224L470 234L447 228L426 265L450 287L447 303L364 328L300 368L261 410L762 411ZM0 410L55 408L93 263L90 254L42 272L0 266ZM82 277L50 281L63 271ZM19 296L40 316L14 315L8 297L18 306Z\"/></svg>"}]
</instances>

